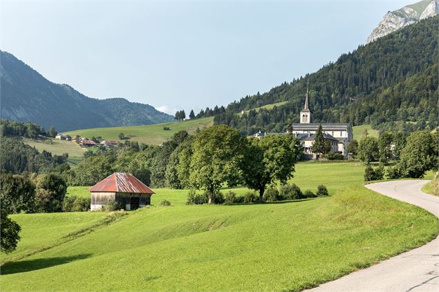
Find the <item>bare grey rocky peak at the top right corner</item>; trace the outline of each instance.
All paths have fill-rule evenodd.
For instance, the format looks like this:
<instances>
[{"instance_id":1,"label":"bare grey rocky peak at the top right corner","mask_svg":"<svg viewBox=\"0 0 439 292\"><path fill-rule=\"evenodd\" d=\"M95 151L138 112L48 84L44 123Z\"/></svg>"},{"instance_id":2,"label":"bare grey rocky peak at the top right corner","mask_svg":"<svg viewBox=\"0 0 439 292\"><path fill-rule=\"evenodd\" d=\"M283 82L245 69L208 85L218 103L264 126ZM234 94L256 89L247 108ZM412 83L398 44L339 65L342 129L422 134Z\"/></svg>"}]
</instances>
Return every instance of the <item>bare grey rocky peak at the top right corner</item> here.
<instances>
[{"instance_id":1,"label":"bare grey rocky peak at the top right corner","mask_svg":"<svg viewBox=\"0 0 439 292\"><path fill-rule=\"evenodd\" d=\"M389 33L399 30L404 26L409 26L422 19L439 14L439 0L422 0L395 11L389 11L384 15L371 35L366 39L366 44L389 35Z\"/></svg>"}]
</instances>

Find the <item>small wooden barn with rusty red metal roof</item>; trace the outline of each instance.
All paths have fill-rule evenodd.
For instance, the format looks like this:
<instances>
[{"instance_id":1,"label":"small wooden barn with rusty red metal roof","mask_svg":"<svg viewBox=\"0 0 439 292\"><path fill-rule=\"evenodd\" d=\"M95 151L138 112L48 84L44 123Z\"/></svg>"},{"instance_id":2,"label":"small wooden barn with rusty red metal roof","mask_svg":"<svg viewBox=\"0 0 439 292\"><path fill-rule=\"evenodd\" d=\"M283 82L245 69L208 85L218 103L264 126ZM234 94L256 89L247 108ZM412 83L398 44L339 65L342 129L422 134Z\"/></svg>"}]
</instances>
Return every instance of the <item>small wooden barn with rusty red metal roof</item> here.
<instances>
[{"instance_id":1,"label":"small wooden barn with rusty red metal roof","mask_svg":"<svg viewBox=\"0 0 439 292\"><path fill-rule=\"evenodd\" d=\"M88 188L91 193L91 211L100 211L102 206L114 199L126 210L136 210L151 204L151 188L129 173L113 173Z\"/></svg>"}]
</instances>

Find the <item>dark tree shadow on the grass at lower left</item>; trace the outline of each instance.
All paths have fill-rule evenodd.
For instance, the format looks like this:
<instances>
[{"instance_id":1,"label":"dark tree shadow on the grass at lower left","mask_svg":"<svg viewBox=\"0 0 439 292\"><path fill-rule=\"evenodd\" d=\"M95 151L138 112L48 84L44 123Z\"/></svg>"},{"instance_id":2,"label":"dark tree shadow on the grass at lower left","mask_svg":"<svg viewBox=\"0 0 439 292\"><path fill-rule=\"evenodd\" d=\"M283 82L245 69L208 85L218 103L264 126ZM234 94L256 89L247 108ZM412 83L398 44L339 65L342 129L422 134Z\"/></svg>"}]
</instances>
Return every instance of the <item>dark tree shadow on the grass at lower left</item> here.
<instances>
[{"instance_id":1,"label":"dark tree shadow on the grass at lower left","mask_svg":"<svg viewBox=\"0 0 439 292\"><path fill-rule=\"evenodd\" d=\"M39 258L35 260L21 260L19 262L8 262L1 266L1 275L24 273L35 271L39 269L46 269L50 266L57 266L59 264L68 264L75 260L84 260L91 257L91 254L72 255L70 257L48 257Z\"/></svg>"}]
</instances>

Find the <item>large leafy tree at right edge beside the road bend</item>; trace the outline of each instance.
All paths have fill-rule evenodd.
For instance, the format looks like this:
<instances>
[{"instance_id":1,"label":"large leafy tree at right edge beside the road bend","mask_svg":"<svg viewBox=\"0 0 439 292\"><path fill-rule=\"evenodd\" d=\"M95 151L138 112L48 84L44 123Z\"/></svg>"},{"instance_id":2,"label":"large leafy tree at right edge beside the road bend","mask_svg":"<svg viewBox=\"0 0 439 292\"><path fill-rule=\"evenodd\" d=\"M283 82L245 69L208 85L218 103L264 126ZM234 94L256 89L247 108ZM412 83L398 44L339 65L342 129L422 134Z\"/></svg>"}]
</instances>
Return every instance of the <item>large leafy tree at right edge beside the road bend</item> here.
<instances>
[{"instance_id":1,"label":"large leafy tree at right edge beside the road bend","mask_svg":"<svg viewBox=\"0 0 439 292\"><path fill-rule=\"evenodd\" d=\"M397 165L403 177L423 177L426 171L438 167L438 132L413 132L407 137Z\"/></svg>"}]
</instances>

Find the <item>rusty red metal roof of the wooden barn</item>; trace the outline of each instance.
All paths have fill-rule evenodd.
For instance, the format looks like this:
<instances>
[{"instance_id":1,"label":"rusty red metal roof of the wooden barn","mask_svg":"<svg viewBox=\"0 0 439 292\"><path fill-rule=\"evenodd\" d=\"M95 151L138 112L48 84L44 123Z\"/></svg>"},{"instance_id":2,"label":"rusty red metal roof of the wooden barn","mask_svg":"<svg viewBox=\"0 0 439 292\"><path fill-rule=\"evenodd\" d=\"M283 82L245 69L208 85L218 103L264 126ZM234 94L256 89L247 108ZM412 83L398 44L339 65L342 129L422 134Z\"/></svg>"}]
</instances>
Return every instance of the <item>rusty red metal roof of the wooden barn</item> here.
<instances>
[{"instance_id":1,"label":"rusty red metal roof of the wooden barn","mask_svg":"<svg viewBox=\"0 0 439 292\"><path fill-rule=\"evenodd\" d=\"M91 192L117 192L155 194L146 184L130 173L113 173L109 177L88 188Z\"/></svg>"}]
</instances>

